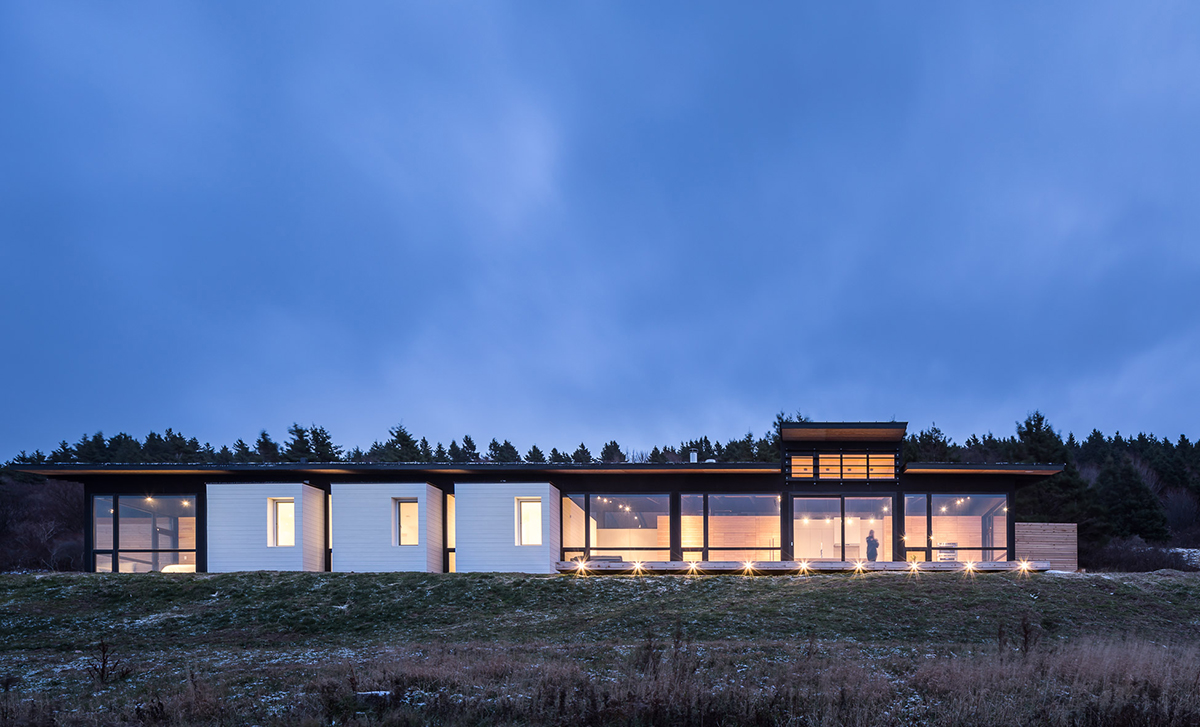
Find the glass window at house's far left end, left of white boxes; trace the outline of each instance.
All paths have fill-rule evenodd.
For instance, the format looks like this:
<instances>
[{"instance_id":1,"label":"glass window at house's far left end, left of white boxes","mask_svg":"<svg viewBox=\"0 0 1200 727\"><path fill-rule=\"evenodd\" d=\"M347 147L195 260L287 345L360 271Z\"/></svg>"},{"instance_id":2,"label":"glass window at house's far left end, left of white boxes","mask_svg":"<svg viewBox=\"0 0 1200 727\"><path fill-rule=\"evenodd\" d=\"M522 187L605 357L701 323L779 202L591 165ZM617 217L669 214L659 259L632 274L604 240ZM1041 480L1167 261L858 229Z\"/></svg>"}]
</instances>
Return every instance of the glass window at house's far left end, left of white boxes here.
<instances>
[{"instance_id":1,"label":"glass window at house's far left end, left of white boxes","mask_svg":"<svg viewBox=\"0 0 1200 727\"><path fill-rule=\"evenodd\" d=\"M97 571L194 571L196 497L94 497L91 545Z\"/></svg>"}]
</instances>

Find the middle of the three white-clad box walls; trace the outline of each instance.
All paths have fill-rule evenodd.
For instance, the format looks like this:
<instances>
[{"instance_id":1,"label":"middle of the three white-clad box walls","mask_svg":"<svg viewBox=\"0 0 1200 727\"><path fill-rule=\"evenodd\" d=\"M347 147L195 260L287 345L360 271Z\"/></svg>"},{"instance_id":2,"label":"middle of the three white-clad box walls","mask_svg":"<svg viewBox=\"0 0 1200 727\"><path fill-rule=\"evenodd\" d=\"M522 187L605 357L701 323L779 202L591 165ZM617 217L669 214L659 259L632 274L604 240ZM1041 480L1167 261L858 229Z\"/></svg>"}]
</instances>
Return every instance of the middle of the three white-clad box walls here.
<instances>
[{"instance_id":1,"label":"middle of the three white-clad box walls","mask_svg":"<svg viewBox=\"0 0 1200 727\"><path fill-rule=\"evenodd\" d=\"M334 485L334 570L442 572L442 491L425 482ZM396 542L395 499L415 499L416 545Z\"/></svg>"}]
</instances>

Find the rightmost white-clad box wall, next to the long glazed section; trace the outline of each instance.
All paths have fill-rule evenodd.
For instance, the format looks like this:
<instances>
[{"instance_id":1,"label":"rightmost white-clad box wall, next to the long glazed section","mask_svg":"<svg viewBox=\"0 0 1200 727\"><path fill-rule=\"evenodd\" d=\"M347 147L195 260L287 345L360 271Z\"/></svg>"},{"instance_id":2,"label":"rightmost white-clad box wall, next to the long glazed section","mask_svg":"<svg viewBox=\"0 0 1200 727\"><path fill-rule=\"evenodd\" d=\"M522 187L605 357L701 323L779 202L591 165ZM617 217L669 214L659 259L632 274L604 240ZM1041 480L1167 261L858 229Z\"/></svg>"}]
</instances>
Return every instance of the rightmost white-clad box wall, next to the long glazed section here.
<instances>
[{"instance_id":1,"label":"rightmost white-clad box wall, next to the long glazed section","mask_svg":"<svg viewBox=\"0 0 1200 727\"><path fill-rule=\"evenodd\" d=\"M517 545L517 498L541 498L541 545ZM552 573L562 552L562 499L548 482L455 483L457 571Z\"/></svg>"}]
</instances>

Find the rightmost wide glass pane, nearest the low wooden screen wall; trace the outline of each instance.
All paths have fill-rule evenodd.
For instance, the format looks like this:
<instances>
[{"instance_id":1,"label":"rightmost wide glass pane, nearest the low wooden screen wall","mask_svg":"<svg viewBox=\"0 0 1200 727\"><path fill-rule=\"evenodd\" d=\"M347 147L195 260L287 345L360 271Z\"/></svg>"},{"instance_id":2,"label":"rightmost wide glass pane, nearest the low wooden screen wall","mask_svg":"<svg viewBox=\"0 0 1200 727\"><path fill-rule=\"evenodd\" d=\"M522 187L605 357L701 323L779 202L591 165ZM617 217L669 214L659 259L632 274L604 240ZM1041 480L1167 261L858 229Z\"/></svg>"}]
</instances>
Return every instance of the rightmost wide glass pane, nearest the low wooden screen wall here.
<instances>
[{"instance_id":1,"label":"rightmost wide glass pane, nearest the low wooden screen wall","mask_svg":"<svg viewBox=\"0 0 1200 727\"><path fill-rule=\"evenodd\" d=\"M1008 498L1002 494L932 495L934 560L1006 560Z\"/></svg>"}]
</instances>

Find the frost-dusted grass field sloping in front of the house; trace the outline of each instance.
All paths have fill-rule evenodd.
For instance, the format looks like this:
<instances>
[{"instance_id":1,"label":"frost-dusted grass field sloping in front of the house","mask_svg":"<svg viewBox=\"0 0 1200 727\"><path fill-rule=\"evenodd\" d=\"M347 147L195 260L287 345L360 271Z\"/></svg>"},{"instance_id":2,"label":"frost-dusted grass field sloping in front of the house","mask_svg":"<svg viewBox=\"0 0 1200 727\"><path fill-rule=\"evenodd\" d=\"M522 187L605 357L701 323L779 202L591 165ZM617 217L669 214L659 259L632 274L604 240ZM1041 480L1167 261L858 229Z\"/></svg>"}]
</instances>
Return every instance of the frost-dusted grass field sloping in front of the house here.
<instances>
[{"instance_id":1,"label":"frost-dusted grass field sloping in front of the house","mask_svg":"<svg viewBox=\"0 0 1200 727\"><path fill-rule=\"evenodd\" d=\"M1200 576L0 576L0 725L1196 725Z\"/></svg>"}]
</instances>

